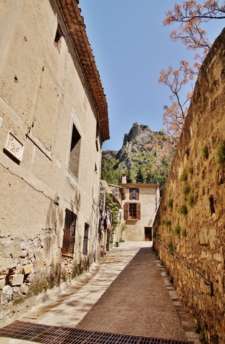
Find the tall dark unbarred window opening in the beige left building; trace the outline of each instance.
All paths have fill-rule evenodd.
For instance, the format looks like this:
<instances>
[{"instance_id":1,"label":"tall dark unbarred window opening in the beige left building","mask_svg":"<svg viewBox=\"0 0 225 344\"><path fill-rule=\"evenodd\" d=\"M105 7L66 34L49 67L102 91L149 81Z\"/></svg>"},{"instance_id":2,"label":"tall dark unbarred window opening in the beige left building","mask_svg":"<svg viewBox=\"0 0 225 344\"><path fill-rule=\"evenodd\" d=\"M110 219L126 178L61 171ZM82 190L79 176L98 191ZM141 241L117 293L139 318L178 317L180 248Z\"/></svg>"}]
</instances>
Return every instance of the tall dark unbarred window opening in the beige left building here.
<instances>
[{"instance_id":1,"label":"tall dark unbarred window opening in the beige left building","mask_svg":"<svg viewBox=\"0 0 225 344\"><path fill-rule=\"evenodd\" d=\"M73 124L72 138L71 138L71 148L69 155L69 170L78 178L79 171L79 158L81 149L81 135L79 134L77 128Z\"/></svg>"}]
</instances>

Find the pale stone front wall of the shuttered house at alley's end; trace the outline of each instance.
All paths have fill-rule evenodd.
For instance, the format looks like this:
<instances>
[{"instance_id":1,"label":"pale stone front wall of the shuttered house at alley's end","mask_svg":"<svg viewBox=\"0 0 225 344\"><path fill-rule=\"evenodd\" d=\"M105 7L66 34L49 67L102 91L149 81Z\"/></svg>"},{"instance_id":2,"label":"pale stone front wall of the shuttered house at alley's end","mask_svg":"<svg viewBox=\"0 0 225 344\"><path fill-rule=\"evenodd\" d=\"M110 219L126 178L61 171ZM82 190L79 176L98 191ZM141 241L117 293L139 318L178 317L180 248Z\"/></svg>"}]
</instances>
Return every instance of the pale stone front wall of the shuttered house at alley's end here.
<instances>
[{"instance_id":1,"label":"pale stone front wall of the shuttered house at alley's end","mask_svg":"<svg viewBox=\"0 0 225 344\"><path fill-rule=\"evenodd\" d=\"M156 216L156 204L159 205L159 186L150 184L120 184L126 193L126 199L122 201L122 223L127 225L127 229L122 233L124 240L144 241L144 227L152 227ZM139 200L130 200L130 187L139 188ZM157 203L156 203L157 195ZM141 219L124 219L125 203L140 203Z\"/></svg>"}]
</instances>

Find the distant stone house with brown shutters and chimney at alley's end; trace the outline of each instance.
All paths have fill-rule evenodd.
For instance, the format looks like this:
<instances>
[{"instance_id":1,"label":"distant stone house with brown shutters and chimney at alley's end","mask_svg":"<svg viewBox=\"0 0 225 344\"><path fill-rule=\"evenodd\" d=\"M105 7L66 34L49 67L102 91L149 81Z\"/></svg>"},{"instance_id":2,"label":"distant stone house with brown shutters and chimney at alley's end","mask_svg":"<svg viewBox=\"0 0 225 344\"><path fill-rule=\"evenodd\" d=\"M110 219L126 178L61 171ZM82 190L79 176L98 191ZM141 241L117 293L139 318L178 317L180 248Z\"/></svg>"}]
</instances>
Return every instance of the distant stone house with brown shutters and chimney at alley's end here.
<instances>
[{"instance_id":1,"label":"distant stone house with brown shutters and chimney at alley's end","mask_svg":"<svg viewBox=\"0 0 225 344\"><path fill-rule=\"evenodd\" d=\"M122 233L124 240L151 241L152 225L159 206L159 184L128 184L126 174L122 174L125 190L122 200L122 223L127 228Z\"/></svg>"}]
</instances>

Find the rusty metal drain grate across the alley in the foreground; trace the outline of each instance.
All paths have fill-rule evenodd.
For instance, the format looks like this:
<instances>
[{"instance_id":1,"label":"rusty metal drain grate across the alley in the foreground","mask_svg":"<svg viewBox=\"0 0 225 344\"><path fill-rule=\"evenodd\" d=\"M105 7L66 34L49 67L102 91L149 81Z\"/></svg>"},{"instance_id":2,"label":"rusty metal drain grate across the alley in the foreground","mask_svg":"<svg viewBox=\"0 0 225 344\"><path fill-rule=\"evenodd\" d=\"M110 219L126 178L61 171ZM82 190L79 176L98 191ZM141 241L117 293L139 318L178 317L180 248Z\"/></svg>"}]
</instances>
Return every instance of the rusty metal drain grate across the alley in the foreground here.
<instances>
[{"instance_id":1,"label":"rusty metal drain grate across the alley in the foreground","mask_svg":"<svg viewBox=\"0 0 225 344\"><path fill-rule=\"evenodd\" d=\"M159 338L92 332L70 327L49 326L15 321L0 329L0 337L9 337L42 344L193 344Z\"/></svg>"}]
</instances>

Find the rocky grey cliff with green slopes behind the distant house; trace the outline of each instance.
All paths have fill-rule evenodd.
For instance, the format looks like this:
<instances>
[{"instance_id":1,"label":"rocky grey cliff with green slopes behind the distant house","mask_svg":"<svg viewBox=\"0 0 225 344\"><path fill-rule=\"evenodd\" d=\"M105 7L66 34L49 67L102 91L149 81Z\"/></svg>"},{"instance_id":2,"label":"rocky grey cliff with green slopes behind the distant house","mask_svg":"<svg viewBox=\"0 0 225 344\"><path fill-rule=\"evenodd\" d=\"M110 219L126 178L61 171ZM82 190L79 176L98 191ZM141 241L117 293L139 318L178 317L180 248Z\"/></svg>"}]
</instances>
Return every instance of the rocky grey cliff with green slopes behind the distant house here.
<instances>
[{"instance_id":1,"label":"rocky grey cliff with green slopes behind the distant house","mask_svg":"<svg viewBox=\"0 0 225 344\"><path fill-rule=\"evenodd\" d=\"M156 142L162 144L165 137L166 135L163 131L152 131L146 125L134 123L129 133L124 135L124 142L119 151L107 150L102 152L102 178L117 184L120 182L121 170L126 171L130 169L135 181L135 176L141 165L146 176L149 173L159 172L162 174L154 175L157 180L163 176L163 180L161 180L162 192L169 165L164 163L163 159L156 154L154 145ZM147 144L150 144L149 148L146 148ZM171 157L173 152L174 147L171 141Z\"/></svg>"}]
</instances>

